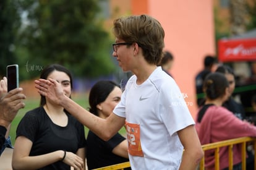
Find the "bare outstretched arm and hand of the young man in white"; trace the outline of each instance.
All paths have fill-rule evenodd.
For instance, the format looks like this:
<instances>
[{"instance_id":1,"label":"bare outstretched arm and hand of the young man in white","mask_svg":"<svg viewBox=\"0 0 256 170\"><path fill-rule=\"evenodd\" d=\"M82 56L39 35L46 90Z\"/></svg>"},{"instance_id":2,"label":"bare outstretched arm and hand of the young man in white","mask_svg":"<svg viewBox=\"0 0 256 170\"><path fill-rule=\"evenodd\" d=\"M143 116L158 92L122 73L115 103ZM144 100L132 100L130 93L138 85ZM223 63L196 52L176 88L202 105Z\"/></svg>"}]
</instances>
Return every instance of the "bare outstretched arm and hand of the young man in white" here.
<instances>
[{"instance_id":1,"label":"bare outstretched arm and hand of the young man in white","mask_svg":"<svg viewBox=\"0 0 256 170\"><path fill-rule=\"evenodd\" d=\"M38 89L38 93L46 96L51 102L61 105L79 122L87 126L103 140L109 140L124 125L125 117L111 114L107 119L101 119L88 112L82 106L75 103L75 101L64 95L61 85L56 80L35 80L35 87Z\"/></svg>"}]
</instances>

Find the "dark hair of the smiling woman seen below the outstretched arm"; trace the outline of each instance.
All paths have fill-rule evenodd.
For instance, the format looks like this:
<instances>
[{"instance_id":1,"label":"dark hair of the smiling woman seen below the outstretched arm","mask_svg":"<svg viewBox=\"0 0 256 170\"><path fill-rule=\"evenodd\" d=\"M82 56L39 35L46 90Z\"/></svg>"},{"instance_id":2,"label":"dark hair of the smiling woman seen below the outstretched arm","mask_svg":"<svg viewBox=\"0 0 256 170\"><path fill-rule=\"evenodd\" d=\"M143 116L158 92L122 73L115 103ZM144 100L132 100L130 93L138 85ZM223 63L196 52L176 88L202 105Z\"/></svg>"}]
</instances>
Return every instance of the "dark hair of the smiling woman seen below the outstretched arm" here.
<instances>
[{"instance_id":1,"label":"dark hair of the smiling woman seen below the outstretched arm","mask_svg":"<svg viewBox=\"0 0 256 170\"><path fill-rule=\"evenodd\" d=\"M114 87L119 87L116 83L109 80L101 80L93 85L89 94L89 111L98 116L97 104L105 101L109 93L114 90Z\"/></svg>"}]
</instances>

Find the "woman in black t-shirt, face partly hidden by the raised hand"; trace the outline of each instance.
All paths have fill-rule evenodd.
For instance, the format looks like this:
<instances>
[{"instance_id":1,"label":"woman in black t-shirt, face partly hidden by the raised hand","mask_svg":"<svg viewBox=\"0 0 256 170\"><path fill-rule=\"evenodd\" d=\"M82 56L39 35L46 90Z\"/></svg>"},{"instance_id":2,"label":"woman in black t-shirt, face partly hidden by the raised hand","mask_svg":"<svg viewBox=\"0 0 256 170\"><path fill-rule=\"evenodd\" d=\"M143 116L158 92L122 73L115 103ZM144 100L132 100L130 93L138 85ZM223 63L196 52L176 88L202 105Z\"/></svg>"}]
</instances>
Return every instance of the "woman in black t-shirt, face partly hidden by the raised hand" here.
<instances>
[{"instance_id":1,"label":"woman in black t-shirt, face partly hidden by the raised hand","mask_svg":"<svg viewBox=\"0 0 256 170\"><path fill-rule=\"evenodd\" d=\"M70 98L72 76L65 67L53 64L41 79L61 83ZM13 169L85 169L84 127L64 108L41 96L40 107L28 111L17 127L12 157Z\"/></svg>"}]
</instances>

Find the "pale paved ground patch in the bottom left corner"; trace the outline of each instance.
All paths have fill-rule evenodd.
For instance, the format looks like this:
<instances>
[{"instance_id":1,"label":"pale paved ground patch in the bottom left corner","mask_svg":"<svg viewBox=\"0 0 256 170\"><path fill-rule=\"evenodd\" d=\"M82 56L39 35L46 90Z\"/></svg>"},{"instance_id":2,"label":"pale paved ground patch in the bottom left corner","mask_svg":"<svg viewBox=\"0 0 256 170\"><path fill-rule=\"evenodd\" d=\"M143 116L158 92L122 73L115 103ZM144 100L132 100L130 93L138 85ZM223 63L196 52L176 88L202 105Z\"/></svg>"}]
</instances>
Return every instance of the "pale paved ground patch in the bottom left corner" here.
<instances>
[{"instance_id":1,"label":"pale paved ground patch in the bottom left corner","mask_svg":"<svg viewBox=\"0 0 256 170\"><path fill-rule=\"evenodd\" d=\"M12 170L12 149L6 148L0 156L0 170Z\"/></svg>"}]
</instances>

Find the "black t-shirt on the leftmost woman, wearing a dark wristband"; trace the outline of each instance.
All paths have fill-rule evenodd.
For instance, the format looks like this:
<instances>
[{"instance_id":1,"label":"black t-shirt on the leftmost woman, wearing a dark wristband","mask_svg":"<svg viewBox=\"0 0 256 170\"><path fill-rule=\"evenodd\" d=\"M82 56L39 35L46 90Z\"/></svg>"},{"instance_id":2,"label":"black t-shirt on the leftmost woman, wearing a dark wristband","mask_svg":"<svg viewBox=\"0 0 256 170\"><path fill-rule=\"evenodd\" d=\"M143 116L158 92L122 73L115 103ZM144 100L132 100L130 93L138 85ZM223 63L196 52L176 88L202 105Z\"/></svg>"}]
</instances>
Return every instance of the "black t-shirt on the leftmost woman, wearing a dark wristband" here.
<instances>
[{"instance_id":1,"label":"black t-shirt on the leftmost woman, wearing a dark wristband","mask_svg":"<svg viewBox=\"0 0 256 170\"><path fill-rule=\"evenodd\" d=\"M57 150L76 153L87 146L84 127L67 113L66 127L54 124L43 107L28 111L17 127L17 137L24 136L33 142L30 156L43 155ZM58 161L40 169L69 169L70 166Z\"/></svg>"}]
</instances>

